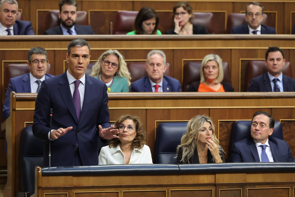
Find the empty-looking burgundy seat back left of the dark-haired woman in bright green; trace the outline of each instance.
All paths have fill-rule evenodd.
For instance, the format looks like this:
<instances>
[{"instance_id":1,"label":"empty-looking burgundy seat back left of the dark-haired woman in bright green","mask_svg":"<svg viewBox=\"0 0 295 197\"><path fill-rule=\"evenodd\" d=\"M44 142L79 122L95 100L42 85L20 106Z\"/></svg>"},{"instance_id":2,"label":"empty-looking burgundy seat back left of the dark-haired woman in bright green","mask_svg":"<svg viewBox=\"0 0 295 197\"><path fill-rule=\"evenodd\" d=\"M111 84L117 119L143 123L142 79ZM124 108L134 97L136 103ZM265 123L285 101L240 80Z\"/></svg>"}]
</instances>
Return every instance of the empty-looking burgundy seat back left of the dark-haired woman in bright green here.
<instances>
[{"instance_id":1,"label":"empty-looking burgundy seat back left of the dark-haired woman in bright green","mask_svg":"<svg viewBox=\"0 0 295 197\"><path fill-rule=\"evenodd\" d=\"M126 33L133 31L134 21L137 14L137 11L118 11L114 22L113 34L125 35Z\"/></svg>"}]
</instances>

